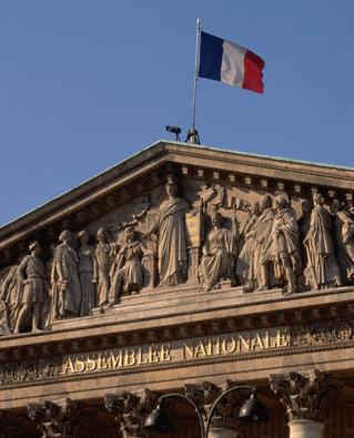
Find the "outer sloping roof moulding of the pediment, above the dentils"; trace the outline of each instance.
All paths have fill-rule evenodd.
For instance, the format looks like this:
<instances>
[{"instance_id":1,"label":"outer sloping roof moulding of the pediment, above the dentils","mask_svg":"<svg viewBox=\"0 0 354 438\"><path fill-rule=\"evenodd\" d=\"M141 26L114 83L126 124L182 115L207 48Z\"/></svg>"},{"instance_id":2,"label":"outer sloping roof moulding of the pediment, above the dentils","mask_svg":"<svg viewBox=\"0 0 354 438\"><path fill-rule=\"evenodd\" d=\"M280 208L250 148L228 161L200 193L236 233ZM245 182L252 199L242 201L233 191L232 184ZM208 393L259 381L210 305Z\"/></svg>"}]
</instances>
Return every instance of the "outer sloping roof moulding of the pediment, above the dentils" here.
<instances>
[{"instance_id":1,"label":"outer sloping roof moulding of the pediment, above the dentils","mask_svg":"<svg viewBox=\"0 0 354 438\"><path fill-rule=\"evenodd\" d=\"M183 160L185 157L191 160ZM195 164L198 160L202 160L202 162ZM350 191L352 191L353 185L351 184L354 182L354 170L348 167L310 164L286 159L243 154L206 146L189 145L185 143L173 144L161 141L0 227L0 241L16 233L21 234L29 227L37 225L41 227L49 226L63 214L70 214L72 211L83 208L87 204L102 196L107 196L113 190L128 184L138 173L141 177L142 174L153 172L159 166L169 162L181 166L194 165L196 167L203 167L205 165L211 170L218 170L215 162L226 163L227 166L222 166L220 172L234 172L236 174L272 177L281 181L287 180L293 181L294 184L313 183L321 186L333 185L336 189L346 189ZM246 167L243 169L240 166ZM260 170L263 170L263 172ZM271 175L269 173L270 170L273 171ZM299 179L299 175L303 175L303 177ZM314 177L313 181L311 176ZM321 181L317 181L317 179L321 179ZM344 181L351 184L343 184ZM236 181L236 184L240 183L242 184L242 182Z\"/></svg>"}]
</instances>

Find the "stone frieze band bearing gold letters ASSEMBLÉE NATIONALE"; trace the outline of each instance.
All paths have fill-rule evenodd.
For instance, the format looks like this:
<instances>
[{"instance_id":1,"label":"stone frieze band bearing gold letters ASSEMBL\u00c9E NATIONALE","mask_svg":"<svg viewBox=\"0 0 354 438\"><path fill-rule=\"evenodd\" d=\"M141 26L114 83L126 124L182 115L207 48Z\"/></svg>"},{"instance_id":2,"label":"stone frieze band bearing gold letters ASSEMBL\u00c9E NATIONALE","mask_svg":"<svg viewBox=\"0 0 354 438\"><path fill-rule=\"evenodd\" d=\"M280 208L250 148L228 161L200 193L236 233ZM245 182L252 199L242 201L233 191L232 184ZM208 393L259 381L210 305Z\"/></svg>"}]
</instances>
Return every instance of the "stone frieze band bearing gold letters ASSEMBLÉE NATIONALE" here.
<instances>
[{"instance_id":1,"label":"stone frieze band bearing gold letters ASSEMBL\u00c9E NATIONALE","mask_svg":"<svg viewBox=\"0 0 354 438\"><path fill-rule=\"evenodd\" d=\"M301 354L307 346L354 347L354 318L262 328L212 337L171 340L163 344L127 346L107 350L65 354L48 359L0 364L0 385L44 383L55 379L94 377L109 373L140 373L146 368L183 367L214 360L243 360L282 354Z\"/></svg>"}]
</instances>

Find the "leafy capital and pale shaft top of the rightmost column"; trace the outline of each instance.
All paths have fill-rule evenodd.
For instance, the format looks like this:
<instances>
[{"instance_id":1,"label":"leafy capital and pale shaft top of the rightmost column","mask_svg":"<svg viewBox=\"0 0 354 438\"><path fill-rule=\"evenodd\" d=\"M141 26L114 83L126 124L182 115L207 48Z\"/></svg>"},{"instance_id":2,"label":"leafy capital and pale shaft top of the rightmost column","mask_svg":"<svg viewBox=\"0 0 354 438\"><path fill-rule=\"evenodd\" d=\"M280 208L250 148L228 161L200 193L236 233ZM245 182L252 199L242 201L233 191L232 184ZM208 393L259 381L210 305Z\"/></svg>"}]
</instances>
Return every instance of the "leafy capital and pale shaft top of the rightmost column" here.
<instances>
[{"instance_id":1,"label":"leafy capital and pale shaft top of the rightmost column","mask_svg":"<svg viewBox=\"0 0 354 438\"><path fill-rule=\"evenodd\" d=\"M323 438L324 420L343 383L331 374L307 373L271 375L273 391L286 408L290 438Z\"/></svg>"}]
</instances>

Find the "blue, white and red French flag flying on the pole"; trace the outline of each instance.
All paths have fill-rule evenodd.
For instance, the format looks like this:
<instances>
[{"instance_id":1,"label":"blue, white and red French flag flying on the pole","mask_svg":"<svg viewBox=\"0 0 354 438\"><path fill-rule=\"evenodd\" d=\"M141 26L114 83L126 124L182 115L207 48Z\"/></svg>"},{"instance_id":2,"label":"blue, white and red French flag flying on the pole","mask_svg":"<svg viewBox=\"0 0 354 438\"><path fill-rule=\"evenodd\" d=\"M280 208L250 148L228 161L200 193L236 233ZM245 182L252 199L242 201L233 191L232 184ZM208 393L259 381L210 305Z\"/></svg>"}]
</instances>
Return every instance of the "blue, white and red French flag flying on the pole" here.
<instances>
[{"instance_id":1,"label":"blue, white and red French flag flying on the pole","mask_svg":"<svg viewBox=\"0 0 354 438\"><path fill-rule=\"evenodd\" d=\"M250 50L201 32L199 77L263 93L264 61Z\"/></svg>"}]
</instances>

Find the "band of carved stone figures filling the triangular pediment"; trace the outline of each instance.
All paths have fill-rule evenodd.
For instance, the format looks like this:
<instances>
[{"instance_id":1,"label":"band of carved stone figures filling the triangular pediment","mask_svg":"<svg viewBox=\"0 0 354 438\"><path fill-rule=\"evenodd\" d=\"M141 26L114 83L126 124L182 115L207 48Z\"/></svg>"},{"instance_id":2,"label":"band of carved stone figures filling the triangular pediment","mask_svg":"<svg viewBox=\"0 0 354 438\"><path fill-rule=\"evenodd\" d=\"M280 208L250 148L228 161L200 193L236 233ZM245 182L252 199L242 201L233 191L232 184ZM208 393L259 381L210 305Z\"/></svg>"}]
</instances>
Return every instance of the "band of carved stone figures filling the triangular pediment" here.
<instances>
[{"instance_id":1,"label":"band of carved stone figures filling the triangular pediment","mask_svg":"<svg viewBox=\"0 0 354 438\"><path fill-rule=\"evenodd\" d=\"M350 202L174 174L136 195L84 228L23 242L24 254L1 272L1 335L103 314L156 287L291 295L354 282Z\"/></svg>"}]
</instances>

